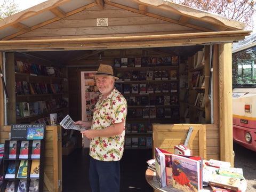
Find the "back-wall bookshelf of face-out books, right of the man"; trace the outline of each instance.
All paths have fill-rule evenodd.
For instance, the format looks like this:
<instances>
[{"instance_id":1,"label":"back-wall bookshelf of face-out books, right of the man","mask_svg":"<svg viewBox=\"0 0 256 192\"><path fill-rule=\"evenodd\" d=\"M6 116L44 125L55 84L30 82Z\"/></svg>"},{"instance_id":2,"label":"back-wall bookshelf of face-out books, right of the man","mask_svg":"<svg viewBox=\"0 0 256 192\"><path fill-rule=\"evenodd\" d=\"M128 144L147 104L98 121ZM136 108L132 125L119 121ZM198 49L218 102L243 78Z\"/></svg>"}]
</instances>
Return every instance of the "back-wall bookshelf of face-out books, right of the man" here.
<instances>
[{"instance_id":1,"label":"back-wall bookshelf of face-out books, right of the man","mask_svg":"<svg viewBox=\"0 0 256 192\"><path fill-rule=\"evenodd\" d=\"M125 149L151 149L152 124L180 122L179 60L177 56L114 60L119 78L115 86L128 104Z\"/></svg>"}]
</instances>

